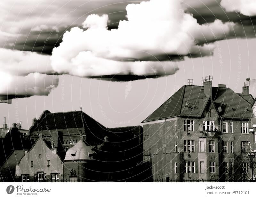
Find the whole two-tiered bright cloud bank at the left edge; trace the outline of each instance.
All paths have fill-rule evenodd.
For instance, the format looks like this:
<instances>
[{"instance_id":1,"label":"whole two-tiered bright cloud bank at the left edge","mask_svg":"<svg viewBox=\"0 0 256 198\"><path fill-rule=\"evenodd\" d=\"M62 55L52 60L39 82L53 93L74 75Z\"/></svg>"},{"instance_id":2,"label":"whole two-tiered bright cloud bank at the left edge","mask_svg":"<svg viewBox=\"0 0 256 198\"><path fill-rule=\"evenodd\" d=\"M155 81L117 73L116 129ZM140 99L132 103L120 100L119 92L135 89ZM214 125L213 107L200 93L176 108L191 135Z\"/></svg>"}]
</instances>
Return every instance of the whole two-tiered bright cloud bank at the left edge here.
<instances>
[{"instance_id":1,"label":"whole two-tiered bright cloud bank at the left edge","mask_svg":"<svg viewBox=\"0 0 256 198\"><path fill-rule=\"evenodd\" d=\"M0 48L0 103L12 98L49 95L58 86L50 56ZM5 101L8 100L8 101Z\"/></svg>"}]
</instances>

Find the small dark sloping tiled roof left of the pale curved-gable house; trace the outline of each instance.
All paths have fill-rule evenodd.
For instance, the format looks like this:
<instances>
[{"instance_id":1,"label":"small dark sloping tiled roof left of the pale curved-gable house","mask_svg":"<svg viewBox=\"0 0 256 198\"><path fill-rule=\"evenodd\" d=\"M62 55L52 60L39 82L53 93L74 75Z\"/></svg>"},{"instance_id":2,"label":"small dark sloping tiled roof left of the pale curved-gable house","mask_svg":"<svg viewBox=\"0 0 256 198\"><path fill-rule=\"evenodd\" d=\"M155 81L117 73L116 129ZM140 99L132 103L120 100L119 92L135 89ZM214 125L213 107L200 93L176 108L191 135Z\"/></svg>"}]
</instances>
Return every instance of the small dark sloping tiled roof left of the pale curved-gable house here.
<instances>
[{"instance_id":1,"label":"small dark sloping tiled roof left of the pale curved-gable house","mask_svg":"<svg viewBox=\"0 0 256 198\"><path fill-rule=\"evenodd\" d=\"M8 173L15 175L16 165L20 163L21 158L24 156L24 150L14 150L8 157L4 164L1 166L1 175L7 175Z\"/></svg>"}]
</instances>

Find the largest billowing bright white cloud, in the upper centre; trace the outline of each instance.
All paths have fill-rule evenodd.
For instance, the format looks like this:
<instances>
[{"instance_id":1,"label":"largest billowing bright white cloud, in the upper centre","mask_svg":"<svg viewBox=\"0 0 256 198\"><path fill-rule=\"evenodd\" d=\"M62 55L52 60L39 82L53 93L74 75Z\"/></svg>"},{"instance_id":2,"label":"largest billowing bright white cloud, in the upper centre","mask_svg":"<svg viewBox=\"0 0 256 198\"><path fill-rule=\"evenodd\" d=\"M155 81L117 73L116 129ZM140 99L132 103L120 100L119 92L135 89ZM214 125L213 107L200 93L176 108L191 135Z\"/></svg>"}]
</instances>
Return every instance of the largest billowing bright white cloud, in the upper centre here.
<instances>
[{"instance_id":1,"label":"largest billowing bright white cloud, in the upper centre","mask_svg":"<svg viewBox=\"0 0 256 198\"><path fill-rule=\"evenodd\" d=\"M108 15L92 14L82 24L85 30L66 31L52 50L52 68L80 77L170 75L177 70L168 62L172 57L212 55L215 45L208 42L214 35L225 38L235 26L220 20L200 25L179 1L128 4L126 11L118 29L108 30Z\"/></svg>"}]
</instances>

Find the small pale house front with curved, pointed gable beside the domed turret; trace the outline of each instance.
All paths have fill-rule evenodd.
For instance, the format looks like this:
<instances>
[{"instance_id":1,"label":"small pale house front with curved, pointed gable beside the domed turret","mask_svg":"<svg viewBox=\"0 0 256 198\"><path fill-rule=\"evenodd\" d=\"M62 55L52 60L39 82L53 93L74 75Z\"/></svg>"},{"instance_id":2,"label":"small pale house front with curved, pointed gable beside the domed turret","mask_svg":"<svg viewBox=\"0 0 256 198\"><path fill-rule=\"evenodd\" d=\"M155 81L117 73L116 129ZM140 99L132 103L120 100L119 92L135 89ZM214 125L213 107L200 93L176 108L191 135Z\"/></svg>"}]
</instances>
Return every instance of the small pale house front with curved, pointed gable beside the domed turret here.
<instances>
[{"instance_id":1,"label":"small pale house front with curved, pointed gable beside the domed turret","mask_svg":"<svg viewBox=\"0 0 256 198\"><path fill-rule=\"evenodd\" d=\"M54 182L63 179L63 163L56 151L40 134L33 147L24 152L20 162L16 165L16 181L44 182L50 180Z\"/></svg>"}]
</instances>

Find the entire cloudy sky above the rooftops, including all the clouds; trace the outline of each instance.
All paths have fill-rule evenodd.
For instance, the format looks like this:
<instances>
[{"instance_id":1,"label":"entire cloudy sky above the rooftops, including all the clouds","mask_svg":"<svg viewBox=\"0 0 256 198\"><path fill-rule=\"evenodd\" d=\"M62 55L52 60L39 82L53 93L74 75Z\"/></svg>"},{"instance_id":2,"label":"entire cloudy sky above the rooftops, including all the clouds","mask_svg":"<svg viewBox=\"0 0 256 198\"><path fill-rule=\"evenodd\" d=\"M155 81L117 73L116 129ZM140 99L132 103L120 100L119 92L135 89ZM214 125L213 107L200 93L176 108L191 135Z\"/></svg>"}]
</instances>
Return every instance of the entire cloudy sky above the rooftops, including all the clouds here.
<instances>
[{"instance_id":1,"label":"entire cloudy sky above the rooftops, including all the clouds","mask_svg":"<svg viewBox=\"0 0 256 198\"><path fill-rule=\"evenodd\" d=\"M106 127L139 125L187 79L241 93L256 78L254 1L132 3L2 3L0 124L83 107Z\"/></svg>"}]
</instances>

